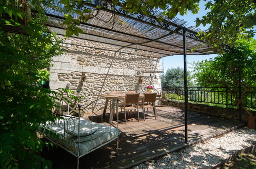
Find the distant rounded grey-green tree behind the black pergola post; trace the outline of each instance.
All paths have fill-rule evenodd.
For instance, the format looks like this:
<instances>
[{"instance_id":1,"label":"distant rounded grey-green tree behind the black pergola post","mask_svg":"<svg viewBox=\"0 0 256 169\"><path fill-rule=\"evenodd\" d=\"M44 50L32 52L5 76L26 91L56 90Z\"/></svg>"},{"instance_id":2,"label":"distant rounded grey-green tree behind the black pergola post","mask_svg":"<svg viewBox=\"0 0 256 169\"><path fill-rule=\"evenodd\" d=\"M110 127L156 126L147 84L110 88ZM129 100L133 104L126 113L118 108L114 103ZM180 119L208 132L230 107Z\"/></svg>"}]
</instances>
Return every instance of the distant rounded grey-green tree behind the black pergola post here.
<instances>
[{"instance_id":1,"label":"distant rounded grey-green tree behind the black pergola post","mask_svg":"<svg viewBox=\"0 0 256 169\"><path fill-rule=\"evenodd\" d=\"M192 85L191 72L187 72L188 86ZM177 67L166 71L162 77L162 87L183 87L184 86L184 69Z\"/></svg>"}]
</instances>

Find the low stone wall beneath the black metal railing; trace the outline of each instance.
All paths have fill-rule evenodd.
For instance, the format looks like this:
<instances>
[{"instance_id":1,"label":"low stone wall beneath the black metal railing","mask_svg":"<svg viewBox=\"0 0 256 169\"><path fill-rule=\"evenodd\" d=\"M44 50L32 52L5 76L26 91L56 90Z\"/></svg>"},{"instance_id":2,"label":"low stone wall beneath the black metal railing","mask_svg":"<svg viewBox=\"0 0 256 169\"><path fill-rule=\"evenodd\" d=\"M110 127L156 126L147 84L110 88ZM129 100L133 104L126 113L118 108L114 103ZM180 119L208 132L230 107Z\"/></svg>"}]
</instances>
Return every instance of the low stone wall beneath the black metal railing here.
<instances>
[{"instance_id":1,"label":"low stone wall beneath the black metal railing","mask_svg":"<svg viewBox=\"0 0 256 169\"><path fill-rule=\"evenodd\" d=\"M167 105L184 109L183 101L168 100ZM238 109L220 108L220 107L215 107L215 106L206 105L206 104L202 104L202 103L188 102L188 110L239 120L239 110ZM251 111L251 113L255 114L255 111L254 112ZM248 115L246 115L246 113L244 111L242 111L242 120L247 121L247 117L248 117Z\"/></svg>"}]
</instances>

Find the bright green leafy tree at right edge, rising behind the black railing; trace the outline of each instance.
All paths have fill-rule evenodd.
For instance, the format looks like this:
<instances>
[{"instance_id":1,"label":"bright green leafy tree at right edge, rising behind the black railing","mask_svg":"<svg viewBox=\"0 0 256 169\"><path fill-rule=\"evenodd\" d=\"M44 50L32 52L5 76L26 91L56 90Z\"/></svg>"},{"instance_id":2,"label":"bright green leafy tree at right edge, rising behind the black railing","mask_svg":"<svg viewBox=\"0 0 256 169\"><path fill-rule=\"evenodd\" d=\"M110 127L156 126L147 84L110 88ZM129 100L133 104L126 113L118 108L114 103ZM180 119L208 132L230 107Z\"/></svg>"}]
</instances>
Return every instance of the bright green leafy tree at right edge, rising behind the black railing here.
<instances>
[{"instance_id":1,"label":"bright green leafy tree at right edge, rising behind the black railing","mask_svg":"<svg viewBox=\"0 0 256 169\"><path fill-rule=\"evenodd\" d=\"M242 98L235 98L237 108L241 107L249 115L243 105L243 99L255 87L256 79L256 40L241 39L235 42L232 51L226 52L214 59L194 63L194 77L201 86L229 87L238 91L242 87ZM240 80L241 79L241 80Z\"/></svg>"}]
</instances>

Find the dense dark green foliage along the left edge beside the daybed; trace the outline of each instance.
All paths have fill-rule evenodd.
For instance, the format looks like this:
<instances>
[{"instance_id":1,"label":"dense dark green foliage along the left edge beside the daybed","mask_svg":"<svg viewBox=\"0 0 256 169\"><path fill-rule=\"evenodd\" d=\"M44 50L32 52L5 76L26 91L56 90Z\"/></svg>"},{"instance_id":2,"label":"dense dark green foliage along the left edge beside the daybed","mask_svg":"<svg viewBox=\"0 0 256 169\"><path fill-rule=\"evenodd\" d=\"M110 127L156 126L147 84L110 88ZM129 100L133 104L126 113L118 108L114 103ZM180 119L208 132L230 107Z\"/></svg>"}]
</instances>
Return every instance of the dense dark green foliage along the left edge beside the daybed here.
<instances>
[{"instance_id":1,"label":"dense dark green foliage along the left edge beside the daybed","mask_svg":"<svg viewBox=\"0 0 256 169\"><path fill-rule=\"evenodd\" d=\"M61 39L49 33L43 16L28 26L17 22L25 13L7 1L0 3L0 23L23 27L27 34L7 33L0 25L0 168L46 168L37 138L41 123L53 121L57 93L41 87L42 69L61 54Z\"/></svg>"}]
</instances>

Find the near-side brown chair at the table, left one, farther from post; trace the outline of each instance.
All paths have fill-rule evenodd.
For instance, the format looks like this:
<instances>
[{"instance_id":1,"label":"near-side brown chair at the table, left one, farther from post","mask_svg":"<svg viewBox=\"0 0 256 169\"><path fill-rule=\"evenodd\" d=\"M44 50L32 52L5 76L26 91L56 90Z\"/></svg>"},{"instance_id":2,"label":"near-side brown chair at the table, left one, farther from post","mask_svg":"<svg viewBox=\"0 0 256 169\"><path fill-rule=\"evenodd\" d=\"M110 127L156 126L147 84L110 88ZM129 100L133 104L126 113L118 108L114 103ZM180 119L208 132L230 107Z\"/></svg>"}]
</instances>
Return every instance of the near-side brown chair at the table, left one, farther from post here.
<instances>
[{"instance_id":1,"label":"near-side brown chair at the table, left one, farther from post","mask_svg":"<svg viewBox=\"0 0 256 169\"><path fill-rule=\"evenodd\" d=\"M118 106L125 111L125 124L127 123L126 119L126 111L137 110L138 112L138 120L140 122L140 114L139 114L139 97L140 93L126 93L125 102L119 104Z\"/></svg>"}]
</instances>

